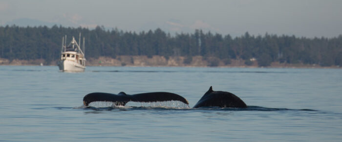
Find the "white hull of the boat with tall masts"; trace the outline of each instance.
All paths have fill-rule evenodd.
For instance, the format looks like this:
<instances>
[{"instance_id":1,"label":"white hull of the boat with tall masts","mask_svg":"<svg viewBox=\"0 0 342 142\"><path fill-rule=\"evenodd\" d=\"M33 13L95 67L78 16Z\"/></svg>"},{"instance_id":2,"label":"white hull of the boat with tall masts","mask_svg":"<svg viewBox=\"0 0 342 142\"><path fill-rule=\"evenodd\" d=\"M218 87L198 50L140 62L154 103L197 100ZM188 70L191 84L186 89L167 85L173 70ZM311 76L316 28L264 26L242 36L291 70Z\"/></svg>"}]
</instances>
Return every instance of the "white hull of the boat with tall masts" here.
<instances>
[{"instance_id":1,"label":"white hull of the boat with tall masts","mask_svg":"<svg viewBox=\"0 0 342 142\"><path fill-rule=\"evenodd\" d=\"M65 72L83 72L85 71L85 66L75 63L70 60L61 60L58 64L60 71Z\"/></svg>"}]
</instances>

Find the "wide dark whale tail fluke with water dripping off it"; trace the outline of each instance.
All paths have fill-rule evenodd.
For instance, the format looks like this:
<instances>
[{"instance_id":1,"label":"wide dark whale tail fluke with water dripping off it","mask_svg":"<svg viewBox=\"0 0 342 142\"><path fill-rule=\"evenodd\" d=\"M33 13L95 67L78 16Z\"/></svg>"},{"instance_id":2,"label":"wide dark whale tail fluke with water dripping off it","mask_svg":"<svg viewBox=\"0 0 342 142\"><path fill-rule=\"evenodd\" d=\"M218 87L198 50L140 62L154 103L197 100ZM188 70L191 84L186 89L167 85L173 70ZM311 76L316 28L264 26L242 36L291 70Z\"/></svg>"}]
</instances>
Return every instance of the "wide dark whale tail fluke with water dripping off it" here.
<instances>
[{"instance_id":1,"label":"wide dark whale tail fluke with water dripping off it","mask_svg":"<svg viewBox=\"0 0 342 142\"><path fill-rule=\"evenodd\" d=\"M95 101L109 101L114 102L115 105L125 105L128 101L135 102L155 102L155 101L181 101L183 103L189 104L188 100L184 97L169 93L169 92L151 92L127 95L124 92L120 92L118 95L109 93L90 93L83 97L83 104L88 106L89 103Z\"/></svg>"}]
</instances>

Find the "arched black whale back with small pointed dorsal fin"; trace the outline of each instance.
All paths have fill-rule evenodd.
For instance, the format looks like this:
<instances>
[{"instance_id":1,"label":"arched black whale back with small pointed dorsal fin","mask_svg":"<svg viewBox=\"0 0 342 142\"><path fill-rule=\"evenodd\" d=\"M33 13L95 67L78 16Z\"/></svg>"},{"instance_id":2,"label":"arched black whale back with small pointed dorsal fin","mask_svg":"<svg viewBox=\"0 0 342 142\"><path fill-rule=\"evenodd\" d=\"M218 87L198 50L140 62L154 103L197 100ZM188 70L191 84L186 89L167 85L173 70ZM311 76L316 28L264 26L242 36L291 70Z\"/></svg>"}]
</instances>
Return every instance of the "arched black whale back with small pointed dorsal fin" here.
<instances>
[{"instance_id":1,"label":"arched black whale back with small pointed dorsal fin","mask_svg":"<svg viewBox=\"0 0 342 142\"><path fill-rule=\"evenodd\" d=\"M213 91L212 86L201 99L199 99L193 108L210 106L247 108L245 102L236 95L229 92Z\"/></svg>"}]
</instances>

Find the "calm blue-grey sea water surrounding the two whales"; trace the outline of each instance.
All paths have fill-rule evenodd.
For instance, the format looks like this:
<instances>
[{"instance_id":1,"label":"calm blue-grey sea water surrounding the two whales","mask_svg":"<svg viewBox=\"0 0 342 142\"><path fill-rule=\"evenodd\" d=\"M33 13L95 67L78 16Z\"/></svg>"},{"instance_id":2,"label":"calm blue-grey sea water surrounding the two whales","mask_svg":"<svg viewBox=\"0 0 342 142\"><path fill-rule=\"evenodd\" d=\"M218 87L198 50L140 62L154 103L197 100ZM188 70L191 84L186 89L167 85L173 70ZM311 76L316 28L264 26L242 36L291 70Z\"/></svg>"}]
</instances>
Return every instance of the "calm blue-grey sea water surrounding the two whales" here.
<instances>
[{"instance_id":1,"label":"calm blue-grey sea water surrounding the two whales","mask_svg":"<svg viewBox=\"0 0 342 142\"><path fill-rule=\"evenodd\" d=\"M210 86L249 107L193 109ZM83 106L92 92L171 92L190 104ZM342 70L0 66L0 141L342 142Z\"/></svg>"}]
</instances>

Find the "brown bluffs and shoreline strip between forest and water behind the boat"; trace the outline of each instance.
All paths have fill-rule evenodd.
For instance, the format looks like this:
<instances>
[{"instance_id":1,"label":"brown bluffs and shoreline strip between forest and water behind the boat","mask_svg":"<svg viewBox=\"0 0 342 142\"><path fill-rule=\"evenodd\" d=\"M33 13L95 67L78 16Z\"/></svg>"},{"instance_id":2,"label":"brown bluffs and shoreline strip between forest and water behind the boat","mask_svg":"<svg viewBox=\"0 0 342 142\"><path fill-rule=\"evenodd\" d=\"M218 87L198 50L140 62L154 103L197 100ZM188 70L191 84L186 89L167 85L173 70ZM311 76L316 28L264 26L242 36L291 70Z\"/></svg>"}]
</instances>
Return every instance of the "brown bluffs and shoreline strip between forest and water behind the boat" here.
<instances>
[{"instance_id":1,"label":"brown bluffs and shoreline strip between forest and water behind the boat","mask_svg":"<svg viewBox=\"0 0 342 142\"><path fill-rule=\"evenodd\" d=\"M217 68L303 68L303 69L341 69L339 66L322 67L320 65L308 65L308 64L287 64L273 62L270 66L259 67L257 61L253 61L250 66L245 64L245 60L231 59L229 64L225 64L223 60L204 59L202 56L193 56L190 61L186 57L168 57L164 56L117 56L117 58L99 57L87 59L86 66L88 67L217 67ZM43 59L36 60L19 60L14 59L9 61L8 59L0 58L0 66L43 66L47 65ZM57 66L57 60L52 61L47 66Z\"/></svg>"}]
</instances>

